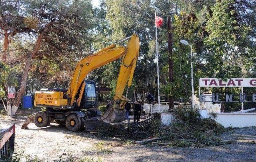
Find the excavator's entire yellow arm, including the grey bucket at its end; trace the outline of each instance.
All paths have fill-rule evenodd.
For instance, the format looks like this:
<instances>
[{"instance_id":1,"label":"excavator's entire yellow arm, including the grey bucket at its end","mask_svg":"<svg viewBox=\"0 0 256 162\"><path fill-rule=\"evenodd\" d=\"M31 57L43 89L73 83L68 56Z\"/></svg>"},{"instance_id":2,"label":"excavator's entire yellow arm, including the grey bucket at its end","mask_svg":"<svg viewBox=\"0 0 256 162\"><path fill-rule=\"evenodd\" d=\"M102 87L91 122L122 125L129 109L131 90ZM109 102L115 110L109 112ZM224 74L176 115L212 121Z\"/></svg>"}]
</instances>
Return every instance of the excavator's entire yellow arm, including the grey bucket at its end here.
<instances>
[{"instance_id":1,"label":"excavator's entire yellow arm, including the grey bucket at its end","mask_svg":"<svg viewBox=\"0 0 256 162\"><path fill-rule=\"evenodd\" d=\"M75 101L78 102L78 105L80 105L82 91L80 91L78 99L76 99L76 95L80 90L80 87L85 86L84 84L82 84L82 82L89 72L122 57L120 72L116 83L114 100L111 102L108 111L100 118L100 120L106 123L110 123L114 120L122 120L122 118L124 117L124 105L127 101L126 97L123 96L123 92L126 84L128 85L128 88L132 84L132 78L139 56L140 48L139 38L136 34L133 34L131 37L128 37L123 41L126 41L127 39L130 40L126 47L116 47L117 44L121 43L120 41L78 62L73 72L67 92L67 95L70 98L71 106L74 104Z\"/></svg>"}]
</instances>

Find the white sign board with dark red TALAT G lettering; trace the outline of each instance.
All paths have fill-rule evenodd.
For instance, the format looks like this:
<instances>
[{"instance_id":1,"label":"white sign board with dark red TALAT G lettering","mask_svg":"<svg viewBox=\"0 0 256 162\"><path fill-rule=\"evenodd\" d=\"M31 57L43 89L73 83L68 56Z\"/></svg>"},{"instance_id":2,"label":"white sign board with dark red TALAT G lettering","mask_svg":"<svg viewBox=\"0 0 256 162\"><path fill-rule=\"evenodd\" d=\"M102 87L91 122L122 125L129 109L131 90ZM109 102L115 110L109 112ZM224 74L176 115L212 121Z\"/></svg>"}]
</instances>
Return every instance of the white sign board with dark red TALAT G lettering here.
<instances>
[{"instance_id":1,"label":"white sign board with dark red TALAT G lettering","mask_svg":"<svg viewBox=\"0 0 256 162\"><path fill-rule=\"evenodd\" d=\"M230 78L226 82L218 78L200 78L200 87L256 87L256 78Z\"/></svg>"}]
</instances>

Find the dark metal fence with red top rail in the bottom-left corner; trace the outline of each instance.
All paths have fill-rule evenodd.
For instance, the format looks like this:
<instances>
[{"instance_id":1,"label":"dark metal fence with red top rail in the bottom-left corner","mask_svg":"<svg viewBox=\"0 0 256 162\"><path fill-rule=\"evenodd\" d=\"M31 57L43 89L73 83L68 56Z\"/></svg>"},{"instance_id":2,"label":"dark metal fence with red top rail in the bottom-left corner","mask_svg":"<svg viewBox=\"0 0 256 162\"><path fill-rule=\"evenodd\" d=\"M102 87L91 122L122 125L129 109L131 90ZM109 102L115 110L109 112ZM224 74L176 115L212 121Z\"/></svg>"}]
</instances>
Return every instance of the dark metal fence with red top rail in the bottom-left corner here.
<instances>
[{"instance_id":1,"label":"dark metal fence with red top rail in the bottom-left corner","mask_svg":"<svg viewBox=\"0 0 256 162\"><path fill-rule=\"evenodd\" d=\"M14 152L15 124L0 130L0 160L9 158Z\"/></svg>"}]
</instances>

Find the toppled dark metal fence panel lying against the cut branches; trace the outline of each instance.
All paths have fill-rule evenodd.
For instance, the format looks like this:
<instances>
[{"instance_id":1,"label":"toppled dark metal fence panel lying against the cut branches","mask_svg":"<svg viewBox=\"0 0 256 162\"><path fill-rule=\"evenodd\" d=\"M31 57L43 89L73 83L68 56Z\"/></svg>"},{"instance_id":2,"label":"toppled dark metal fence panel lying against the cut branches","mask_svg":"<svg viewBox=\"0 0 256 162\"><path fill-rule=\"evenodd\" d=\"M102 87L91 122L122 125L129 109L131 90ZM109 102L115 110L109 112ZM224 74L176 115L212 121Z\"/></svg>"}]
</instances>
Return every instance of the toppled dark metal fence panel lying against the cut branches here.
<instances>
[{"instance_id":1,"label":"toppled dark metal fence panel lying against the cut branches","mask_svg":"<svg viewBox=\"0 0 256 162\"><path fill-rule=\"evenodd\" d=\"M153 117L150 117L144 121L135 122L135 123L128 123L127 131L122 138L122 140L127 139L144 139L148 137L152 131L153 122L156 119L160 119L159 114L154 114Z\"/></svg>"}]
</instances>

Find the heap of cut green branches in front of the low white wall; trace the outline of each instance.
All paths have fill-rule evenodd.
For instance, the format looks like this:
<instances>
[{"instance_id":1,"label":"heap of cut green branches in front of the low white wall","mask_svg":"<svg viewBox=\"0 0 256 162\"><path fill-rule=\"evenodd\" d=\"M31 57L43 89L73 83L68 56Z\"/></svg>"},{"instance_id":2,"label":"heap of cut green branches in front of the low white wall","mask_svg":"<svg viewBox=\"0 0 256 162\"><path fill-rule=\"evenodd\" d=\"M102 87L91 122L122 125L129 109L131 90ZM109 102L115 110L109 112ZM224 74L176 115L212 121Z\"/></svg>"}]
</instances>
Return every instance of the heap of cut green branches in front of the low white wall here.
<instances>
[{"instance_id":1,"label":"heap of cut green branches in front of the low white wall","mask_svg":"<svg viewBox=\"0 0 256 162\"><path fill-rule=\"evenodd\" d=\"M168 144L170 146L209 146L225 144L216 135L226 129L211 118L202 118L198 110L190 106L174 109L175 119L168 126L160 125L155 121L153 125L153 138L160 142L155 144ZM153 141L153 140L152 140Z\"/></svg>"}]
</instances>

